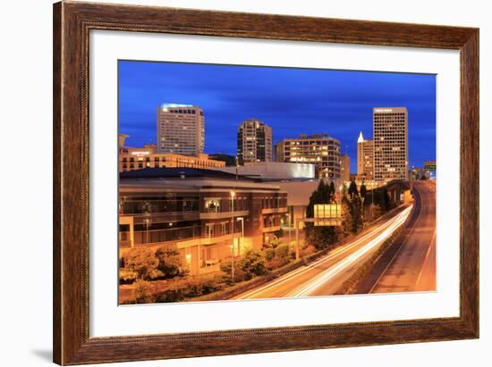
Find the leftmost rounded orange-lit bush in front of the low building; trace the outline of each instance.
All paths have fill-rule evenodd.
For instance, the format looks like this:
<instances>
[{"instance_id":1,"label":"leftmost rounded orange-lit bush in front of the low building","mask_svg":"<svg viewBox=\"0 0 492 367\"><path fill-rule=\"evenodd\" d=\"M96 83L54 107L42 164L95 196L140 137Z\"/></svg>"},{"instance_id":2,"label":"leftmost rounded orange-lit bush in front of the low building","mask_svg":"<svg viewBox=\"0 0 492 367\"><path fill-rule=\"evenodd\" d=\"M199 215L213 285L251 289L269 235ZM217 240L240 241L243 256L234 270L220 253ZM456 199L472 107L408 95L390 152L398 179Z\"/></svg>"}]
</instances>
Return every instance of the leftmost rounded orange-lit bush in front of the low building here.
<instances>
[{"instance_id":1,"label":"leftmost rounded orange-lit bush in front of the low building","mask_svg":"<svg viewBox=\"0 0 492 367\"><path fill-rule=\"evenodd\" d=\"M131 248L124 254L123 259L123 269L125 271L136 272L140 279L157 279L163 275L163 273L157 269L159 260L154 252L148 248Z\"/></svg>"}]
</instances>

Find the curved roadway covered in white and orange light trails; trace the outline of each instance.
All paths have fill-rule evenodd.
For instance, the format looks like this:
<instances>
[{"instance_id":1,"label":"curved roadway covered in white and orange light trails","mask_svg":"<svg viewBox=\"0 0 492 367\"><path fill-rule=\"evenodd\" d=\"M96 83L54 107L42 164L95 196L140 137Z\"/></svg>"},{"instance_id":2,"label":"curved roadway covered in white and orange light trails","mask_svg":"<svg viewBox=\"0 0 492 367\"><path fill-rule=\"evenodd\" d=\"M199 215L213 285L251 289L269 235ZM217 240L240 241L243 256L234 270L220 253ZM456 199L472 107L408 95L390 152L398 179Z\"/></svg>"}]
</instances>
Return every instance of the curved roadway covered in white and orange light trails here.
<instances>
[{"instance_id":1,"label":"curved roadway covered in white and orange light trails","mask_svg":"<svg viewBox=\"0 0 492 367\"><path fill-rule=\"evenodd\" d=\"M266 285L251 289L233 299L256 299L333 295L371 254L403 225L412 205L384 216L369 229L317 261L290 271Z\"/></svg>"}]
</instances>

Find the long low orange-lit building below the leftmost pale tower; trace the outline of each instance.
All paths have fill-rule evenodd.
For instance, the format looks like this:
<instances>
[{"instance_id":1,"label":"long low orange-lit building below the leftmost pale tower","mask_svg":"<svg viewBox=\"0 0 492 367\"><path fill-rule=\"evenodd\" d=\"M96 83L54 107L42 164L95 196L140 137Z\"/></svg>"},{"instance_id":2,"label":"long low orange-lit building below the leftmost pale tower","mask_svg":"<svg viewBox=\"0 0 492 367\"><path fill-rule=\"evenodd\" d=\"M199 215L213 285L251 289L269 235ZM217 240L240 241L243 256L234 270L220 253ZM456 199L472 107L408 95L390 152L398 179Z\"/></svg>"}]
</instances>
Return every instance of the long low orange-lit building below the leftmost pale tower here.
<instances>
[{"instance_id":1,"label":"long low orange-lit building below the leftmost pale tower","mask_svg":"<svg viewBox=\"0 0 492 367\"><path fill-rule=\"evenodd\" d=\"M128 135L121 135L120 144L124 144L124 139L128 138ZM159 154L155 144L148 144L141 148L120 146L118 161L120 172L159 167L188 167L212 170L225 167L225 162L209 159L208 154L198 154L198 156L172 153Z\"/></svg>"}]
</instances>

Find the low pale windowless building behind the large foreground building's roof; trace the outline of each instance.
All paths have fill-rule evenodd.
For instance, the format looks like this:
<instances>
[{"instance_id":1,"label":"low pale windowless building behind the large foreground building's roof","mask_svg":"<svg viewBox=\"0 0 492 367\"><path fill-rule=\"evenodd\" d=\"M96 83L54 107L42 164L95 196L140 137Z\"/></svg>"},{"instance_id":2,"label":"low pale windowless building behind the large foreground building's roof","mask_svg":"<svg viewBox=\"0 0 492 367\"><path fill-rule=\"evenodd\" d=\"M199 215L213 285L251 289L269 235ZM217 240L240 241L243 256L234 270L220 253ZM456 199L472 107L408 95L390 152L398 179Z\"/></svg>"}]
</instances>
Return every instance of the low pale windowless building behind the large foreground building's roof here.
<instances>
[{"instance_id":1,"label":"low pale windowless building behind the large foreground building's roof","mask_svg":"<svg viewBox=\"0 0 492 367\"><path fill-rule=\"evenodd\" d=\"M316 175L315 165L307 163L284 163L284 162L252 162L244 163L243 166L225 167L220 171L236 173L257 179L314 179Z\"/></svg>"}]
</instances>

